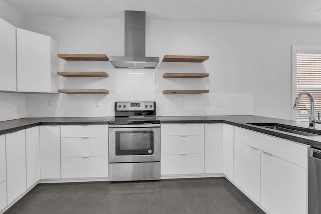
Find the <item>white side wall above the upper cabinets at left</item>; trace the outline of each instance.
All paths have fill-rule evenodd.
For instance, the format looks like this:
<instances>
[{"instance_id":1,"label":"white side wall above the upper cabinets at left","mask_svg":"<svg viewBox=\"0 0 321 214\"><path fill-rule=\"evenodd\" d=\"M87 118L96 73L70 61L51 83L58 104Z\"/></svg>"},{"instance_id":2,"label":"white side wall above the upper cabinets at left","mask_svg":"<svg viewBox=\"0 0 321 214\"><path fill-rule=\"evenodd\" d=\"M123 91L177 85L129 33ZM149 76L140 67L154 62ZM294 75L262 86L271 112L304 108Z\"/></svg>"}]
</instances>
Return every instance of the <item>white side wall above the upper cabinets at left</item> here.
<instances>
[{"instance_id":1,"label":"white side wall above the upper cabinets at left","mask_svg":"<svg viewBox=\"0 0 321 214\"><path fill-rule=\"evenodd\" d=\"M6 20L17 28L23 28L25 17L3 0L0 0L0 18Z\"/></svg>"}]
</instances>

